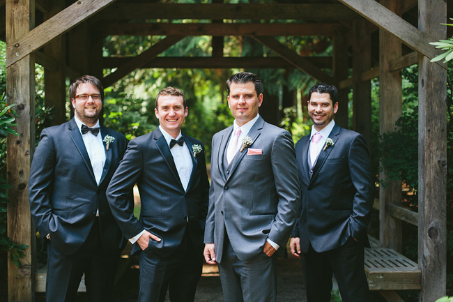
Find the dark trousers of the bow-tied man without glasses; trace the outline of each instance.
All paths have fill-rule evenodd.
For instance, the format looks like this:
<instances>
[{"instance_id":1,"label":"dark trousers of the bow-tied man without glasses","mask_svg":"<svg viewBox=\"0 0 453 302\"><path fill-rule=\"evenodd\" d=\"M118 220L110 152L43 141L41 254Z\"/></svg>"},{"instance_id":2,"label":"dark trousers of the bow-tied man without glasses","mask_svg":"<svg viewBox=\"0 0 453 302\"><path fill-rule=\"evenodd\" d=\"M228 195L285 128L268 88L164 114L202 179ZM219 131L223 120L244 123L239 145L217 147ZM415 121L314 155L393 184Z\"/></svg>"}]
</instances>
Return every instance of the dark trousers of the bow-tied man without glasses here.
<instances>
[{"instance_id":1,"label":"dark trousers of the bow-tied man without glasses","mask_svg":"<svg viewBox=\"0 0 453 302\"><path fill-rule=\"evenodd\" d=\"M171 302L194 301L203 270L203 254L195 249L188 225L176 252L160 257L151 248L142 250L139 266L139 302L163 302L167 289Z\"/></svg>"}]
</instances>

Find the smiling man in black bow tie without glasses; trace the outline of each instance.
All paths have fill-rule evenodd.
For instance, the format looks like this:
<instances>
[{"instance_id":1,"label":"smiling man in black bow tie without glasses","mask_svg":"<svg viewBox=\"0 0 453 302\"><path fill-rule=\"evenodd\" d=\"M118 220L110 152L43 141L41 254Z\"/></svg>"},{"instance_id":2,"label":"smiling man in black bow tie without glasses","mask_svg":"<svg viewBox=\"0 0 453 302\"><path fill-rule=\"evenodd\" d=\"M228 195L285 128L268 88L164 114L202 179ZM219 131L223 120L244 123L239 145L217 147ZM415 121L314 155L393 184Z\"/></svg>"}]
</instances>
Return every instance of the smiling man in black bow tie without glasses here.
<instances>
[{"instance_id":1,"label":"smiling man in black bow tie without glasses","mask_svg":"<svg viewBox=\"0 0 453 302\"><path fill-rule=\"evenodd\" d=\"M155 101L160 126L132 139L107 189L107 198L125 235L139 254L139 301L194 301L201 277L208 212L204 145L181 134L187 105L183 91L167 87ZM140 219L127 209L137 183Z\"/></svg>"}]
</instances>

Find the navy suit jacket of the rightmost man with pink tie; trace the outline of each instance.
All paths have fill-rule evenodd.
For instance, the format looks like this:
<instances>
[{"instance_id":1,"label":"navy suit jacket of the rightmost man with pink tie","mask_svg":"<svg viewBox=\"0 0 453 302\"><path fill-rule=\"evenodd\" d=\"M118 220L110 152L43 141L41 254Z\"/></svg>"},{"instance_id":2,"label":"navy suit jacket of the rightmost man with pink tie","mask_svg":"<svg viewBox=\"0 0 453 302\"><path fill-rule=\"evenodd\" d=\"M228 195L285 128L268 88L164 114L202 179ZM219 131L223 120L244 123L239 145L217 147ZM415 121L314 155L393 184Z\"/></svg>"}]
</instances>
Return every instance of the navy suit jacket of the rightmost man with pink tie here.
<instances>
[{"instance_id":1,"label":"navy suit jacket of the rightmost man with pink tie","mask_svg":"<svg viewBox=\"0 0 453 302\"><path fill-rule=\"evenodd\" d=\"M321 149L309 176L309 138L295 144L302 211L293 229L300 248L310 243L316 252L342 246L352 236L369 246L367 225L374 202L374 181L364 138L335 124L329 135L334 145Z\"/></svg>"}]
</instances>

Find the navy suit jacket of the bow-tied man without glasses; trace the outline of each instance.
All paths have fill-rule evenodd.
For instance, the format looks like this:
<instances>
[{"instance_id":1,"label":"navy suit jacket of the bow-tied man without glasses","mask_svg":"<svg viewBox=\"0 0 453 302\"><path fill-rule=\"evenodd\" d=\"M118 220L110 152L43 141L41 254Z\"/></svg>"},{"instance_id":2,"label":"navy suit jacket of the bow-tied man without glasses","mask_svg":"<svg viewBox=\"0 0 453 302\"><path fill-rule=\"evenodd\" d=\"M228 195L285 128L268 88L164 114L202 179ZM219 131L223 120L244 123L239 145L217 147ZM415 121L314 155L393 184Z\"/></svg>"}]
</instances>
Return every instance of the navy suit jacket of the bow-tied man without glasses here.
<instances>
[{"instance_id":1,"label":"navy suit jacket of the bow-tied man without glasses","mask_svg":"<svg viewBox=\"0 0 453 302\"><path fill-rule=\"evenodd\" d=\"M151 239L148 248L161 257L168 257L178 248L187 227L195 248L203 255L203 234L208 212L209 182L206 174L204 145L183 135L185 146L192 154L193 169L185 191L171 156L169 145L159 128L152 133L132 139L123 161L107 189L114 217L128 238L143 229L162 240ZM203 151L193 156L192 146ZM128 210L130 189L137 183L141 199L140 218ZM140 251L138 243L132 253Z\"/></svg>"}]
</instances>

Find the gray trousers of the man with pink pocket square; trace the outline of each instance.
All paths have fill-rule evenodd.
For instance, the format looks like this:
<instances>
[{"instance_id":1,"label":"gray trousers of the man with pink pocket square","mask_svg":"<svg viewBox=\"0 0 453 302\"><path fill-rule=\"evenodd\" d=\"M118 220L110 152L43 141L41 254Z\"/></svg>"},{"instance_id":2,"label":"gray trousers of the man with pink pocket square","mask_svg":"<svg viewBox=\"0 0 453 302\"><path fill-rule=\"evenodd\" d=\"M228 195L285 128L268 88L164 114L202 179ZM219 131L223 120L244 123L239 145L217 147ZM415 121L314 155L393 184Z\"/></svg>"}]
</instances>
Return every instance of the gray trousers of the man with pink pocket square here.
<instances>
[{"instance_id":1,"label":"gray trousers of the man with pink pocket square","mask_svg":"<svg viewBox=\"0 0 453 302\"><path fill-rule=\"evenodd\" d=\"M277 255L263 251L241 261L225 236L224 254L219 264L220 282L225 302L277 301Z\"/></svg>"}]
</instances>

